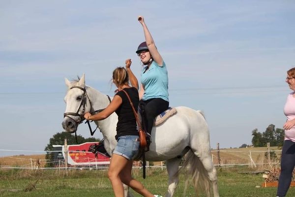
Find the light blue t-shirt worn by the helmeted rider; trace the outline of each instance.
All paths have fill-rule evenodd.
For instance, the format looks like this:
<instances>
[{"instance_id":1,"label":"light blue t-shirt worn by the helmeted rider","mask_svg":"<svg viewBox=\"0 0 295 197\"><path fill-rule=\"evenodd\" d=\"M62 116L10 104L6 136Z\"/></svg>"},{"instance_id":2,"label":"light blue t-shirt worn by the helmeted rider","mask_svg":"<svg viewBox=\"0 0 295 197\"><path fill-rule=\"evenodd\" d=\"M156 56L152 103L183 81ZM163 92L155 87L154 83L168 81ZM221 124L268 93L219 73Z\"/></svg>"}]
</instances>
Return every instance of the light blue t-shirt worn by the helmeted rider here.
<instances>
[{"instance_id":1,"label":"light blue t-shirt worn by the helmeted rider","mask_svg":"<svg viewBox=\"0 0 295 197\"><path fill-rule=\"evenodd\" d=\"M160 98L169 101L168 93L168 72L165 63L159 66L155 61L152 61L148 70L144 67L141 74L141 83L145 88L143 100Z\"/></svg>"}]
</instances>

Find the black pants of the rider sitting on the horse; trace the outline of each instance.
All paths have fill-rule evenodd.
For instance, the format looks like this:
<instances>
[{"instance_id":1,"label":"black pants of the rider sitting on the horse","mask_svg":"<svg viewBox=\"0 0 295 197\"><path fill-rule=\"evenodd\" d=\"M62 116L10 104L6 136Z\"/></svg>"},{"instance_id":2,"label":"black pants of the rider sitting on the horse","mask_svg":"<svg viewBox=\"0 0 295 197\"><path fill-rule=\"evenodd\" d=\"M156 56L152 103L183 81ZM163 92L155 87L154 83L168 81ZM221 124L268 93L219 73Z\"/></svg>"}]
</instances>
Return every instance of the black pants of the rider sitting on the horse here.
<instances>
[{"instance_id":1,"label":"black pants of the rider sitting on the horse","mask_svg":"<svg viewBox=\"0 0 295 197\"><path fill-rule=\"evenodd\" d=\"M145 105L146 130L150 133L154 123L154 118L168 109L169 102L159 98L141 100L140 102L143 102Z\"/></svg>"}]
</instances>

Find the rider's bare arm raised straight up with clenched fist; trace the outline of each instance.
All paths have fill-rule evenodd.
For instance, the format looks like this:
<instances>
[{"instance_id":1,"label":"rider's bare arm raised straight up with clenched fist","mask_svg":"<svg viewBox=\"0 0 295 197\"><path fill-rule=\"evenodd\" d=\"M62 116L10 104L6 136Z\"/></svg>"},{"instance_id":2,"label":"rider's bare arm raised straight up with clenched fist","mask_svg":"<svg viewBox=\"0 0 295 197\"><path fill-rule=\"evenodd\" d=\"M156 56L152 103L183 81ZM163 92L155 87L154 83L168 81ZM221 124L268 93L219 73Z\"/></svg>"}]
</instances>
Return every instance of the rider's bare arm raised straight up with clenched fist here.
<instances>
[{"instance_id":1,"label":"rider's bare arm raised straight up with clenched fist","mask_svg":"<svg viewBox=\"0 0 295 197\"><path fill-rule=\"evenodd\" d=\"M159 65L159 66L163 66L163 59L160 55L160 53L158 52L156 45L154 43L154 40L151 36L151 34L148 31L148 27L145 23L144 17L143 16L138 16L137 17L138 21L140 22L140 24L142 24L143 28L144 28L144 33L145 33L145 38L146 38L146 42L148 45L148 51L150 53L150 55L152 56L152 59Z\"/></svg>"}]
</instances>

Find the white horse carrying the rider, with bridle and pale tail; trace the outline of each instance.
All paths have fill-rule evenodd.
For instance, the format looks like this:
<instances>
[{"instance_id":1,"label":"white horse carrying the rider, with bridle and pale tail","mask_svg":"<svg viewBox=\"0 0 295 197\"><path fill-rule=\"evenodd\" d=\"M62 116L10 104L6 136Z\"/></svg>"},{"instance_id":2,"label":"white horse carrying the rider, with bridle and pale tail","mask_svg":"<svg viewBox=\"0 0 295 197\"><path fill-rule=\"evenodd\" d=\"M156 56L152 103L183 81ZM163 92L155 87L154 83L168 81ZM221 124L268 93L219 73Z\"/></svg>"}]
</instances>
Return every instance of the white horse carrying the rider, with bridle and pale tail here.
<instances>
[{"instance_id":1,"label":"white horse carrying the rider, with bridle and pale tail","mask_svg":"<svg viewBox=\"0 0 295 197\"><path fill-rule=\"evenodd\" d=\"M65 131L75 132L83 121L83 113L104 109L110 103L108 96L85 85L85 75L76 82L65 79L68 87L64 98L66 110L62 127ZM153 127L152 143L146 153L147 161L167 161L169 186L166 197L172 197L178 184L178 166L182 156L187 154L188 167L194 186L203 184L209 194L209 181L212 183L214 197L219 197L217 188L216 169L211 161L209 130L201 111L188 107L176 107L177 114L163 124ZM116 113L102 121L95 121L104 137L107 152L112 155L117 141L115 139L118 116ZM197 190L197 188L196 188ZM197 190L198 191L198 190Z\"/></svg>"}]
</instances>

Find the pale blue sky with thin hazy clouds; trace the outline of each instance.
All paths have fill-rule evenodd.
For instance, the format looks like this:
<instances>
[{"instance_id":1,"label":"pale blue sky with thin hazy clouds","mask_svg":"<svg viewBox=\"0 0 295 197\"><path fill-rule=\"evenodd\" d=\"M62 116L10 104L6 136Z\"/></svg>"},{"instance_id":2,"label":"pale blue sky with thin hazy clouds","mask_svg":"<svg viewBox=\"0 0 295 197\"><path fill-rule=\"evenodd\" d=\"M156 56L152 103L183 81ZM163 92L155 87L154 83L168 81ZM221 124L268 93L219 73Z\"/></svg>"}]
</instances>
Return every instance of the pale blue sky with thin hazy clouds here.
<instances>
[{"instance_id":1,"label":"pale blue sky with thin hazy clouds","mask_svg":"<svg viewBox=\"0 0 295 197\"><path fill-rule=\"evenodd\" d=\"M138 15L167 65L170 106L205 113L211 148L282 128L294 0L0 0L0 157L45 154L63 131L65 77L85 73L87 85L114 96L112 71L131 58L140 78ZM90 137L88 126L77 134Z\"/></svg>"}]
</instances>

